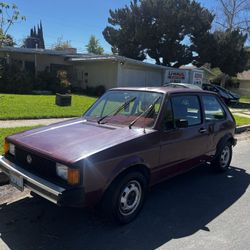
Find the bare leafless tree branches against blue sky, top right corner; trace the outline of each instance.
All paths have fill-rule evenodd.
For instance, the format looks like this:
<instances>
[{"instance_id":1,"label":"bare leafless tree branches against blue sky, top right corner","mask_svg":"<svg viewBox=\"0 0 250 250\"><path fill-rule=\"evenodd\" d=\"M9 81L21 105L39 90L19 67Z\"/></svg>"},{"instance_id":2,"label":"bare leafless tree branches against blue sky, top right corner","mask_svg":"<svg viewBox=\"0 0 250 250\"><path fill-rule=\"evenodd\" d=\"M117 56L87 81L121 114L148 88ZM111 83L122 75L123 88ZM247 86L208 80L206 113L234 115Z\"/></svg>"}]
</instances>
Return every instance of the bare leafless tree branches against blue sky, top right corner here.
<instances>
[{"instance_id":1,"label":"bare leafless tree branches against blue sky, top right corner","mask_svg":"<svg viewBox=\"0 0 250 250\"><path fill-rule=\"evenodd\" d=\"M224 30L239 29L250 34L250 1L249 0L217 0L219 8L216 23Z\"/></svg>"}]
</instances>

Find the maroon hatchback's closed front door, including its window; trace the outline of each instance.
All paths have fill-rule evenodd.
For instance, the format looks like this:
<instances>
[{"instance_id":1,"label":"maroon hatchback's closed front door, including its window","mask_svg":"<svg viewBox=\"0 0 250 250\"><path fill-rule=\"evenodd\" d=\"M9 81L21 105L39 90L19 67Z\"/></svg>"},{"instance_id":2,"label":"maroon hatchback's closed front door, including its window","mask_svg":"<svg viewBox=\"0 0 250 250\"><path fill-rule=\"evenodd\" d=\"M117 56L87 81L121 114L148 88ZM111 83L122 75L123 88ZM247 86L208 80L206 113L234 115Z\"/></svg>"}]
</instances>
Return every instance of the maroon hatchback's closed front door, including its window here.
<instances>
[{"instance_id":1,"label":"maroon hatchback's closed front door, including its window","mask_svg":"<svg viewBox=\"0 0 250 250\"><path fill-rule=\"evenodd\" d=\"M165 113L160 132L160 166L155 169L159 179L186 171L204 160L209 138L199 95L173 95ZM180 121L187 121L187 126L180 126Z\"/></svg>"}]
</instances>

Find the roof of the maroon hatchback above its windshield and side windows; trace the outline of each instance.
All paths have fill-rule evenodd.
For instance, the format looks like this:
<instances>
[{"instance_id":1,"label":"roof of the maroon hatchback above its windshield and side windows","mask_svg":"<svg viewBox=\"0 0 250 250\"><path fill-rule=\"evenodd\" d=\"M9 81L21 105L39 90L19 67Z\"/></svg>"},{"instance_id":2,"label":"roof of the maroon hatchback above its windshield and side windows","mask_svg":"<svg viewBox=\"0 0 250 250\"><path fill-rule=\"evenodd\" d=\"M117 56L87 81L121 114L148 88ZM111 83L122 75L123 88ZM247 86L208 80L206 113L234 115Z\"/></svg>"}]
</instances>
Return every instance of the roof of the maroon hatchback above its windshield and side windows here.
<instances>
[{"instance_id":1,"label":"roof of the maroon hatchback above its windshield and side windows","mask_svg":"<svg viewBox=\"0 0 250 250\"><path fill-rule=\"evenodd\" d=\"M118 88L112 88L110 90L123 90L123 91L148 91L148 92L158 92L163 94L168 93L209 93L210 91L204 91L202 89L191 89L191 88L175 88L171 86L160 86L160 87L118 87Z\"/></svg>"}]
</instances>

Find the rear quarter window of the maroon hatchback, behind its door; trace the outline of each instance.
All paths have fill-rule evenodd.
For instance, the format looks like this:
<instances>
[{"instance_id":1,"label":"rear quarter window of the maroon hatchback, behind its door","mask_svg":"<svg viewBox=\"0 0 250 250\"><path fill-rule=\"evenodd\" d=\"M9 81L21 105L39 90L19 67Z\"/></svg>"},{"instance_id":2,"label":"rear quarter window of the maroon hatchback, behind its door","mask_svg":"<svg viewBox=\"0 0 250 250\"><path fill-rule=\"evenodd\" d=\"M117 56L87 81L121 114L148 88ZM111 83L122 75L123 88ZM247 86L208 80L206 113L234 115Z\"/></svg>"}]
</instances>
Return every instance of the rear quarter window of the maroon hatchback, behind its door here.
<instances>
[{"instance_id":1,"label":"rear quarter window of the maroon hatchback, behind its door","mask_svg":"<svg viewBox=\"0 0 250 250\"><path fill-rule=\"evenodd\" d=\"M206 121L223 120L225 118L225 112L215 96L203 96L202 100Z\"/></svg>"}]
</instances>

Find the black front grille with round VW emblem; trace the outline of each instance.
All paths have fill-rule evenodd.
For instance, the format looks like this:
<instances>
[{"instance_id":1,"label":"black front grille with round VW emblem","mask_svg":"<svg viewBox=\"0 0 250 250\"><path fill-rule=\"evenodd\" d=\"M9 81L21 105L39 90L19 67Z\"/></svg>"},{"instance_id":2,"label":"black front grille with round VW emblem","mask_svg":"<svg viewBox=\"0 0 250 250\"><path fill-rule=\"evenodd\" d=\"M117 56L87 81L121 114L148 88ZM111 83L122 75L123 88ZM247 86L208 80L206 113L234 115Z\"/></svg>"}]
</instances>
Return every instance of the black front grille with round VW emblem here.
<instances>
[{"instance_id":1,"label":"black front grille with round VW emblem","mask_svg":"<svg viewBox=\"0 0 250 250\"><path fill-rule=\"evenodd\" d=\"M57 177L55 162L39 157L26 150L16 147L15 161L29 172L45 177L46 179Z\"/></svg>"}]
</instances>

